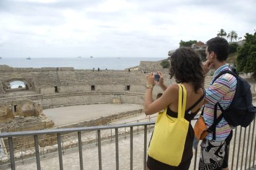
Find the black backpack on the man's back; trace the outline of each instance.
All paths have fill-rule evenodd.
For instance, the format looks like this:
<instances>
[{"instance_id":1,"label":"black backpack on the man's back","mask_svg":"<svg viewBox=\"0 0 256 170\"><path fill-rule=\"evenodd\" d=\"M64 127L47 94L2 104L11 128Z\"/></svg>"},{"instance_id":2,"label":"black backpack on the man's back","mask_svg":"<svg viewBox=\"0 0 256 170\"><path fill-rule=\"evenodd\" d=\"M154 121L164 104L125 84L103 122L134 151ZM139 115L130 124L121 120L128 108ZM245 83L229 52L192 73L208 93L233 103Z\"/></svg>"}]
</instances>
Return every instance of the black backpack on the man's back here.
<instances>
[{"instance_id":1,"label":"black backpack on the man's back","mask_svg":"<svg viewBox=\"0 0 256 170\"><path fill-rule=\"evenodd\" d=\"M231 126L236 127L240 125L242 127L247 127L254 120L256 113L256 107L252 105L252 92L250 91L250 84L230 70L221 71L221 73L219 73L219 75L213 80L213 83L221 75L226 73L236 77L236 92L231 104L228 108L226 108L226 110L223 110L220 103L217 102L215 104L215 120L213 124L218 124L224 117L224 119ZM217 105L222 111L222 114L218 118L216 118Z\"/></svg>"}]
</instances>

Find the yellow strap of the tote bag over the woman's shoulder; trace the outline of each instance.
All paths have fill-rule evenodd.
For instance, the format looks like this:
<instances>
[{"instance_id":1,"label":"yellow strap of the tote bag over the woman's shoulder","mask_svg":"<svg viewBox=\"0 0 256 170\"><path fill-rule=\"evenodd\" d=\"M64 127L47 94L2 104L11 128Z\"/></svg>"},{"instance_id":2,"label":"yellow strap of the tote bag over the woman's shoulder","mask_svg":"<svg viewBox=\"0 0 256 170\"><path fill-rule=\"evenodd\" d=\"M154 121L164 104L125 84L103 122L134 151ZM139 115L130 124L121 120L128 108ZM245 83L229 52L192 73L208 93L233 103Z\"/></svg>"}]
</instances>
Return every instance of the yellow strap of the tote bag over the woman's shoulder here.
<instances>
[{"instance_id":1,"label":"yellow strap of the tote bag over the woman's shoulder","mask_svg":"<svg viewBox=\"0 0 256 170\"><path fill-rule=\"evenodd\" d=\"M186 102L187 102L187 91L183 84L178 84L179 86L179 104L178 104L178 119L184 119ZM182 101L183 98L183 101Z\"/></svg>"}]
</instances>

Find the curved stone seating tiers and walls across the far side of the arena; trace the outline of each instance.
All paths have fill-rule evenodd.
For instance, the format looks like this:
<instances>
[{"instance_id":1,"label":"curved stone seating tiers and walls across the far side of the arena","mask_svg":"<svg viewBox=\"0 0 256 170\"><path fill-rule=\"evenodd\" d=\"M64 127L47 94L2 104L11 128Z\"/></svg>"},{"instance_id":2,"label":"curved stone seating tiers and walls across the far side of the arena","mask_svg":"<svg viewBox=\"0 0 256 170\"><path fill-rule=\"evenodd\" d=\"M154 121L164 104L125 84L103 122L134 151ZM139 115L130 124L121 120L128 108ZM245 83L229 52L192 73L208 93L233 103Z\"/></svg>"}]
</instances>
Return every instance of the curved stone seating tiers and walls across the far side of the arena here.
<instances>
[{"instance_id":1,"label":"curved stone seating tiers and walls across the far side of the arena","mask_svg":"<svg viewBox=\"0 0 256 170\"><path fill-rule=\"evenodd\" d=\"M151 68L153 68L153 65L151 65ZM18 68L12 69L10 68L10 75L8 75L7 71L0 73L0 78L3 81L9 81L13 76L12 71L19 70ZM58 79L56 78L56 70L54 70L54 73L52 72L53 70L46 70L46 68L20 69L19 73L14 74L19 79L21 77L28 79L31 76L30 79L33 82L30 83L35 85L35 91L30 89L31 92L34 92L33 95L26 95L25 99L41 102L43 106L52 107L75 103L112 103L115 94L122 94L120 95L121 103L143 103L146 81L145 74L141 71L92 71L74 69L67 69L66 71L60 69L58 70ZM166 85L175 83L174 79L169 79L168 69L162 69L161 71L164 74L164 83ZM210 78L206 79L206 85L208 85L208 79ZM162 90L156 86L153 91L153 97L159 92L162 92ZM24 96L22 95L10 97L7 94L0 94L0 103L9 100L23 100L23 98Z\"/></svg>"}]
</instances>

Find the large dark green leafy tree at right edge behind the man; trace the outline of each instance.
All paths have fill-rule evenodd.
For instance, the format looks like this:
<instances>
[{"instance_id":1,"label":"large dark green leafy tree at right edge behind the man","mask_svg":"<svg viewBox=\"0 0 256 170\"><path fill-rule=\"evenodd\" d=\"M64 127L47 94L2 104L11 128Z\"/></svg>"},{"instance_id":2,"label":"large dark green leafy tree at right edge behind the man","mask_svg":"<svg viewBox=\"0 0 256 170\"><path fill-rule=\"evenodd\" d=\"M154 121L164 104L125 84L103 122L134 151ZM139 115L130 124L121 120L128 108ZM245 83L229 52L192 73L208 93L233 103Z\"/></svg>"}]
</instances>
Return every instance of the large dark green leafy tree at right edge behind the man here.
<instances>
[{"instance_id":1,"label":"large dark green leafy tree at right edge behind the man","mask_svg":"<svg viewBox=\"0 0 256 170\"><path fill-rule=\"evenodd\" d=\"M253 73L256 78L256 33L246 33L245 43L238 49L237 70L245 73Z\"/></svg>"}]
</instances>

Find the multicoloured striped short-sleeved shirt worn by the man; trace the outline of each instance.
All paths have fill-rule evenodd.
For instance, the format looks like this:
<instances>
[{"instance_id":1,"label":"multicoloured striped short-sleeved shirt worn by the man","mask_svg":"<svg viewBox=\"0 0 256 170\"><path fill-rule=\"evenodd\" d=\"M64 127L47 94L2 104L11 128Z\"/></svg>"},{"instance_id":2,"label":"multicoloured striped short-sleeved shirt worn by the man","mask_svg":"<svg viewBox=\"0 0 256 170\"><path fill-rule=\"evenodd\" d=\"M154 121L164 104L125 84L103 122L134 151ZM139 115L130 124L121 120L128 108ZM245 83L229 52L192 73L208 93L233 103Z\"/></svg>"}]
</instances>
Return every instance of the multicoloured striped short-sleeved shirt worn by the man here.
<instances>
[{"instance_id":1,"label":"multicoloured striped short-sleeved shirt worn by the man","mask_svg":"<svg viewBox=\"0 0 256 170\"><path fill-rule=\"evenodd\" d=\"M221 66L218 68L214 75L213 79L224 70L230 70L228 64ZM214 119L214 106L215 103L219 102L221 107L225 110L231 104L234 94L236 92L236 78L230 74L221 75L216 81L213 83L213 79L211 80L209 88L206 90L205 99L208 101L205 104L205 108L203 110L203 119L205 120L205 124L207 127L210 127L213 124ZM221 115L221 110L217 107L217 118ZM216 126L216 140L221 141L225 140L228 137L232 127L229 126L228 122L223 118L220 123ZM213 139L213 134L209 133L206 137L208 140Z\"/></svg>"}]
</instances>

